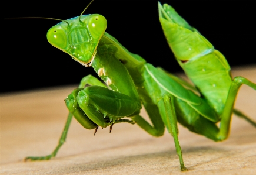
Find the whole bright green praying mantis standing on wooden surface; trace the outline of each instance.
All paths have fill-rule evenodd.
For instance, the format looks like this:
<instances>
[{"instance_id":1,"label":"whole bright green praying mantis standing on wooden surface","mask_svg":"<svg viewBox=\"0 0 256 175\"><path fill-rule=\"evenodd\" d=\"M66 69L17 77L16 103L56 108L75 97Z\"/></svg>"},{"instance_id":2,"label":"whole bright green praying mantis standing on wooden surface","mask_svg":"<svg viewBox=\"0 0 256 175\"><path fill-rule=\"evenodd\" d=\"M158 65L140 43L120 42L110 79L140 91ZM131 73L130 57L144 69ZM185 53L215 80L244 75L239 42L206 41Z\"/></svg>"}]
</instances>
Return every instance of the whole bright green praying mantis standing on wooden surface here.
<instances>
[{"instance_id":1,"label":"whole bright green praying mantis standing on wooden surface","mask_svg":"<svg viewBox=\"0 0 256 175\"><path fill-rule=\"evenodd\" d=\"M98 78L84 77L78 89L65 99L70 114L59 145L51 155L26 160L56 156L72 116L95 132L98 127L112 129L114 124L127 122L137 123L152 136L162 136L166 127L174 138L182 171L187 168L178 142L177 122L214 141L227 138L232 112L255 125L232 108L240 85L256 90L256 84L243 77L232 79L225 57L171 6L158 3L158 10L167 42L195 86L130 53L105 32L104 16L83 15L64 20L49 29L48 41L82 65L94 68L105 84ZM84 88L87 84L90 86ZM142 105L152 125L139 115Z\"/></svg>"}]
</instances>

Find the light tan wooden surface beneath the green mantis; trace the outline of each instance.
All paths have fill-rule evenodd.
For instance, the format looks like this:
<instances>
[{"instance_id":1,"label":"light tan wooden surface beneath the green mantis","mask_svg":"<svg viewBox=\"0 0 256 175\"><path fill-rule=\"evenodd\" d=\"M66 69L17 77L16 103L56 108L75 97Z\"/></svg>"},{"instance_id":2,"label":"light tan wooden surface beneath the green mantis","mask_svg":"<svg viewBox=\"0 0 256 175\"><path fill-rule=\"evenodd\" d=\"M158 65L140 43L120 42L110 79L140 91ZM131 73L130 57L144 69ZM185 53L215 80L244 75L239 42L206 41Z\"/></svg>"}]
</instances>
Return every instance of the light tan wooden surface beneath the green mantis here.
<instances>
[{"instance_id":1,"label":"light tan wooden surface beneath the green mantis","mask_svg":"<svg viewBox=\"0 0 256 175\"><path fill-rule=\"evenodd\" d=\"M256 66L233 68L256 82ZM137 125L82 128L72 120L67 142L52 160L23 162L52 152L67 118L64 98L75 87L1 95L1 174L181 174L172 137L148 135ZM256 121L256 91L243 85L235 107ZM233 116L230 137L215 143L179 125L183 174L252 174L256 128Z\"/></svg>"}]
</instances>

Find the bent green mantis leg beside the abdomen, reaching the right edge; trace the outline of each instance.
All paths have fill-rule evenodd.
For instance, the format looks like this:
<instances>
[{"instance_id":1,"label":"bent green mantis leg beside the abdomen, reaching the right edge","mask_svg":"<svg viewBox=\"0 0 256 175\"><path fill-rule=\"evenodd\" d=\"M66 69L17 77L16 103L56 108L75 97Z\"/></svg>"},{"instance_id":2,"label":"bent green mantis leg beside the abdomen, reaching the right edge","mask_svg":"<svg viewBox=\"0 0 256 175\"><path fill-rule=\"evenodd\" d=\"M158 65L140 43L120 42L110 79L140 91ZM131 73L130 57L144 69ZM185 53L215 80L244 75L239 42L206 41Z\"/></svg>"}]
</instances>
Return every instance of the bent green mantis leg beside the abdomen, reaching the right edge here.
<instances>
[{"instance_id":1,"label":"bent green mantis leg beside the abdomen, reaching the right edge","mask_svg":"<svg viewBox=\"0 0 256 175\"><path fill-rule=\"evenodd\" d=\"M218 133L218 139L224 140L228 136L228 132L230 131L230 121L232 108L234 107L235 97L237 96L237 92L242 84L246 84L249 87L256 90L256 84L247 80L244 77L237 76L232 81L230 91L228 92L227 102L225 104L222 116L221 116L221 126L220 132Z\"/></svg>"}]
</instances>

